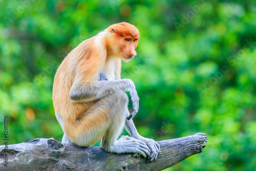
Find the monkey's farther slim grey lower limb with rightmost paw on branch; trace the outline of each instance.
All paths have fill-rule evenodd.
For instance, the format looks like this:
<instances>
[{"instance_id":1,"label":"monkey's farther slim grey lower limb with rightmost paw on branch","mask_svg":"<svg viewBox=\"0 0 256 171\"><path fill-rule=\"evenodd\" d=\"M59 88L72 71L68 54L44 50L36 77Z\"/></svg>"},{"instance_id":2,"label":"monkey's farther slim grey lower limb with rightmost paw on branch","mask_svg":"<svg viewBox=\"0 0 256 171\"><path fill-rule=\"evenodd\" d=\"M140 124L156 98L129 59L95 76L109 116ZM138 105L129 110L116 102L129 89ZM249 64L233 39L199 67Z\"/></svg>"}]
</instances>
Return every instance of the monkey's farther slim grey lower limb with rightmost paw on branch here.
<instances>
[{"instance_id":1,"label":"monkey's farther slim grey lower limb with rightmost paw on branch","mask_svg":"<svg viewBox=\"0 0 256 171\"><path fill-rule=\"evenodd\" d=\"M157 156L160 153L160 145L153 139L150 138L144 138L141 135L139 135L133 120L125 120L125 129L130 134L130 136L146 143L146 145L151 149L151 154L148 156L148 161L152 162L154 159L157 159ZM135 157L139 157L139 154L135 154Z\"/></svg>"}]
</instances>

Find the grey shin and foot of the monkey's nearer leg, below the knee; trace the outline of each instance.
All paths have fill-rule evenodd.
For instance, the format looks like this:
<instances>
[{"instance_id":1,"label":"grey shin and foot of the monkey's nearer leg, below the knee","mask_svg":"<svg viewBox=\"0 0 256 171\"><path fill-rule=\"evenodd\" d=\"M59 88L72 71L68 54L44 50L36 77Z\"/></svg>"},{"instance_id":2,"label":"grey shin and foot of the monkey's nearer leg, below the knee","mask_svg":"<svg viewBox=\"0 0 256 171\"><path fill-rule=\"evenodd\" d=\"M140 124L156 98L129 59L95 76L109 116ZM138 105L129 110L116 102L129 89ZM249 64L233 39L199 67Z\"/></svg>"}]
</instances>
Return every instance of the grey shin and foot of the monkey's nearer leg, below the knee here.
<instances>
[{"instance_id":1,"label":"grey shin and foot of the monkey's nearer leg, below the knee","mask_svg":"<svg viewBox=\"0 0 256 171\"><path fill-rule=\"evenodd\" d=\"M126 120L126 110L128 98L124 91L113 93L111 99L117 105L112 106L111 124L101 140L101 146L107 152L111 153L138 153L146 158L150 155L150 148L147 145L133 137L122 136L118 141L117 138L121 134L124 122Z\"/></svg>"}]
</instances>

